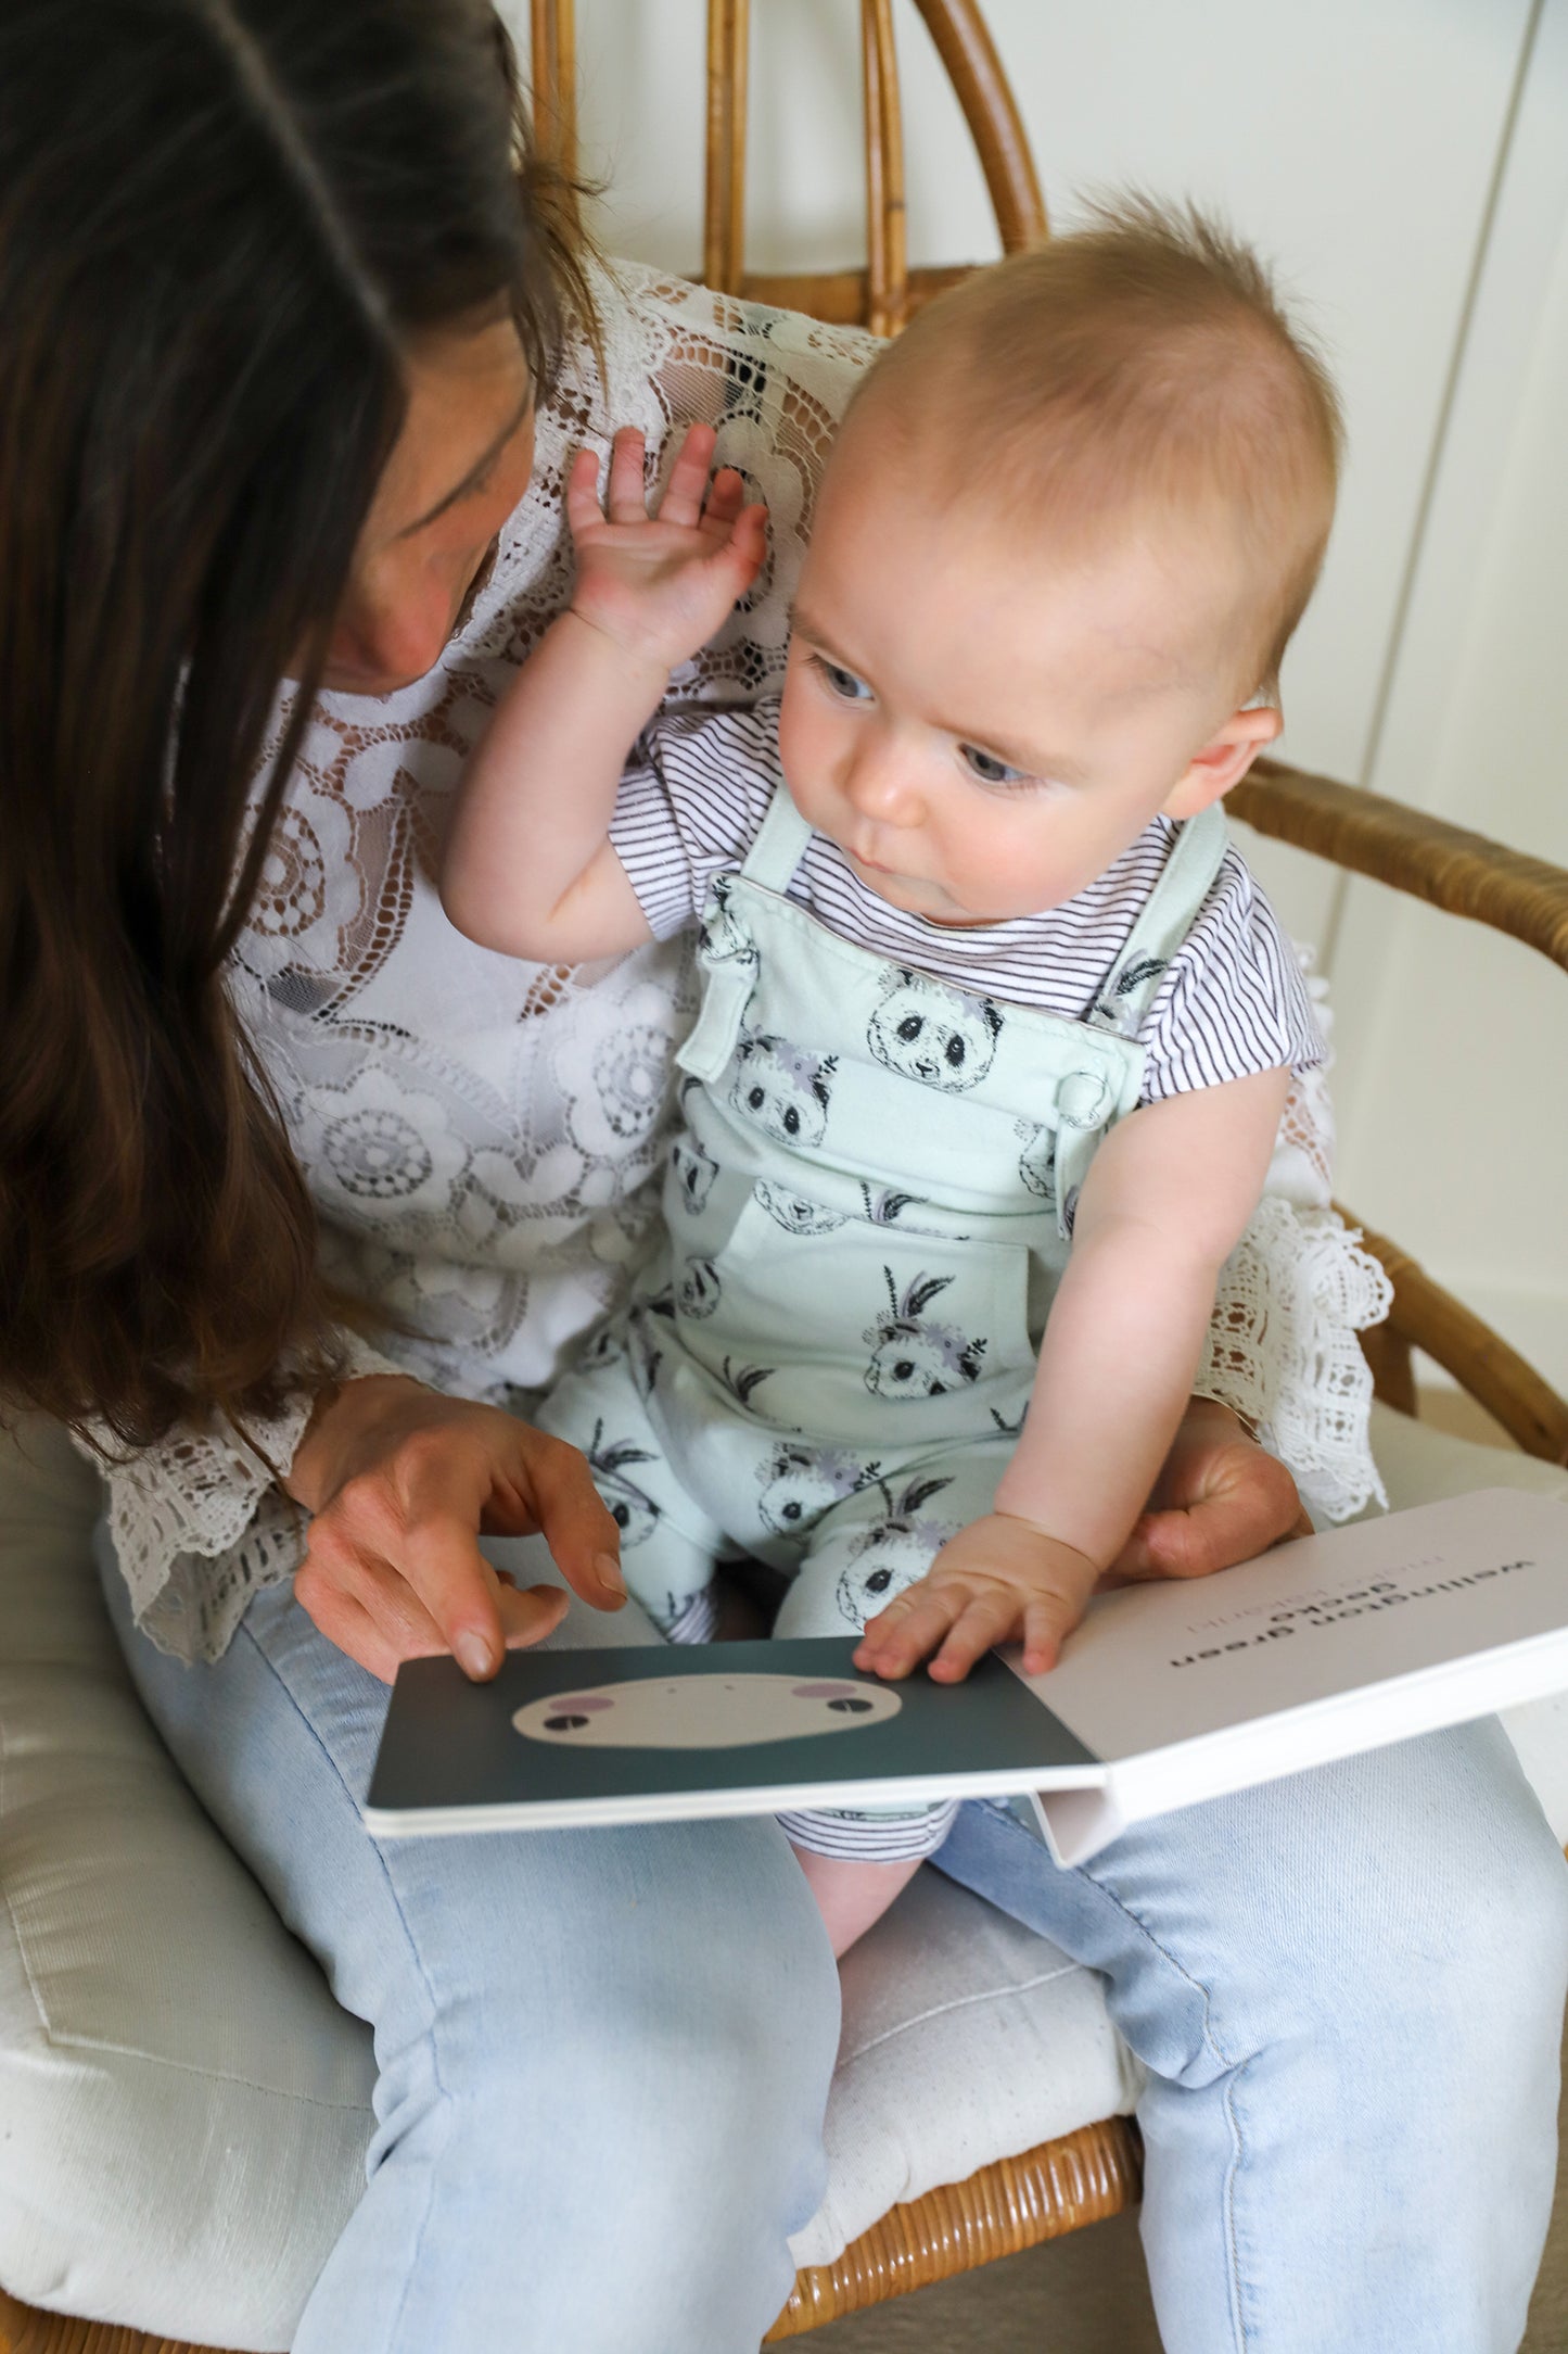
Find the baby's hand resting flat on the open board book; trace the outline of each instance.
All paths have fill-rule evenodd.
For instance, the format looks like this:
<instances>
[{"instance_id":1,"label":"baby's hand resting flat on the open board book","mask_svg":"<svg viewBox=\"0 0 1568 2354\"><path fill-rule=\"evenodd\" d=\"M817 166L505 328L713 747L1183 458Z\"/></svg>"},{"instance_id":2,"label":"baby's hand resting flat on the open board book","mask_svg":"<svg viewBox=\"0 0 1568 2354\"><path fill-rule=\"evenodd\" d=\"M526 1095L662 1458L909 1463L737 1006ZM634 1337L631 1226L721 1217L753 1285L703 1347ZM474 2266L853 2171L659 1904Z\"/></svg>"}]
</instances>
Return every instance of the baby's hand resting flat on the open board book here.
<instances>
[{"instance_id":1,"label":"baby's hand resting flat on the open board book","mask_svg":"<svg viewBox=\"0 0 1568 2354\"><path fill-rule=\"evenodd\" d=\"M867 1622L856 1667L907 1676L936 1653L938 1683L961 1683L992 1643L1023 1638L1027 1676L1056 1667L1063 1636L1084 1617L1100 1563L1011 1511L971 1521L926 1575ZM940 1645L940 1650L938 1650Z\"/></svg>"}]
</instances>

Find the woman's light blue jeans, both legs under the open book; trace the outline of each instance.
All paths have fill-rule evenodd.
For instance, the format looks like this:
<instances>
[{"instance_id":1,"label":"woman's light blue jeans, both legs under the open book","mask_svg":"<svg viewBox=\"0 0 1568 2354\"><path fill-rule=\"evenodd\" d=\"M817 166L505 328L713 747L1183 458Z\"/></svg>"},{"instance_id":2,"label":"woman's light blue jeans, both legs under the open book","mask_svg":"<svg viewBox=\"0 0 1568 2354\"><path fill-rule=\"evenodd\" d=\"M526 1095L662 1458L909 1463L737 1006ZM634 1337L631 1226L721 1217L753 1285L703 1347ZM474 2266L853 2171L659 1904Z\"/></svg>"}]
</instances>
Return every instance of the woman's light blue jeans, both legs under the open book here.
<instances>
[{"instance_id":1,"label":"woman's light blue jeans, both legs under the open book","mask_svg":"<svg viewBox=\"0 0 1568 2354\"><path fill-rule=\"evenodd\" d=\"M287 1589L183 1669L108 1587L188 1780L376 2029L369 2187L294 2354L752 2354L820 2194L837 2034L776 1829L376 1846L355 1796L386 1690ZM1512 2354L1568 1869L1495 1723L1187 1808L1077 1871L966 1806L940 1869L1105 1973L1150 2067L1168 2354Z\"/></svg>"}]
</instances>

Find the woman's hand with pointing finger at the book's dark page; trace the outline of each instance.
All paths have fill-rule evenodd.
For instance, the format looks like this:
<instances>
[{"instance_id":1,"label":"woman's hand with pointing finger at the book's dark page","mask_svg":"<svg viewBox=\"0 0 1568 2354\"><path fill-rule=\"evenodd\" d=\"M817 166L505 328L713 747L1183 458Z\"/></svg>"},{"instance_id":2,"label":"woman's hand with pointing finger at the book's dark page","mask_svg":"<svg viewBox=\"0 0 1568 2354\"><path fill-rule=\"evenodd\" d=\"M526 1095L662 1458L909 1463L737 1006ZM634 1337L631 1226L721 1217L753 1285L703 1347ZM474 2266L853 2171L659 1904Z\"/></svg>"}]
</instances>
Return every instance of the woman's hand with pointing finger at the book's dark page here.
<instances>
[{"instance_id":1,"label":"woman's hand with pointing finger at the book's dark page","mask_svg":"<svg viewBox=\"0 0 1568 2354\"><path fill-rule=\"evenodd\" d=\"M618 1610L621 1532L562 1438L494 1405L444 1398L402 1375L327 1391L284 1481L310 1514L294 1594L320 1631L390 1683L400 1660L454 1653L482 1681L503 1645L559 1624L557 1587L517 1591L480 1551L480 1530L543 1530L567 1584Z\"/></svg>"}]
</instances>

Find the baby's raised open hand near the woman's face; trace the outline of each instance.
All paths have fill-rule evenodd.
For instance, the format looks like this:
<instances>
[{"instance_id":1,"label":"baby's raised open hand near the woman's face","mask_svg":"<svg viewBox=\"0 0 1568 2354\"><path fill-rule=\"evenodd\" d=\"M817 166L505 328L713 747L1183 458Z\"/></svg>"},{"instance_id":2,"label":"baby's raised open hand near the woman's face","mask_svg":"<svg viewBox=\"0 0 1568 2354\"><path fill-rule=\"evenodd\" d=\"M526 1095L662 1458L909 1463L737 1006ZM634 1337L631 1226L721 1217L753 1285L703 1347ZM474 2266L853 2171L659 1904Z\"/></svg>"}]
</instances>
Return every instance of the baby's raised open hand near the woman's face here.
<instances>
[{"instance_id":1,"label":"baby's raised open hand near the woman's face","mask_svg":"<svg viewBox=\"0 0 1568 2354\"><path fill-rule=\"evenodd\" d=\"M745 506L736 468L722 466L708 485L712 445L712 426L686 428L656 518L646 508L635 426L616 433L609 452L609 516L592 450L578 450L567 478L578 572L571 612L665 673L708 645L766 556L766 508Z\"/></svg>"}]
</instances>

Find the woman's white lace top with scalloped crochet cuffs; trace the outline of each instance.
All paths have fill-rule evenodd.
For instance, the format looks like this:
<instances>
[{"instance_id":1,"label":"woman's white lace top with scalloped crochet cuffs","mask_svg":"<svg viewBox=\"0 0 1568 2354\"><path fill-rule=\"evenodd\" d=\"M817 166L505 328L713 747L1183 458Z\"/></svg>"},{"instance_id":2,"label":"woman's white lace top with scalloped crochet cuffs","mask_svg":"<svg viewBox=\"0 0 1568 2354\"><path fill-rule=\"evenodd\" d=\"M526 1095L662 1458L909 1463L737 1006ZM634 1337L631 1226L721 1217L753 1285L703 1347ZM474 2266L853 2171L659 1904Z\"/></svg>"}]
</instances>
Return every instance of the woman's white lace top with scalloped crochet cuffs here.
<instances>
[{"instance_id":1,"label":"woman's white lace top with scalloped crochet cuffs","mask_svg":"<svg viewBox=\"0 0 1568 2354\"><path fill-rule=\"evenodd\" d=\"M418 1335L388 1337L386 1354L350 1342L350 1370L407 1368L522 1408L644 1248L691 998L677 944L576 970L475 949L435 895L444 810L505 680L567 600L569 452L607 452L618 424L663 452L670 426L710 419L719 459L769 504L769 570L675 694L755 701L780 683L813 483L875 348L632 266L602 285L602 320L607 381L574 353L538 417L529 494L440 666L383 701L320 699L233 960L327 1259ZM1328 1149L1309 1073L1272 1191L1225 1269L1201 1387L1340 1516L1380 1492L1354 1332L1387 1309L1387 1285L1328 1210ZM299 1396L254 1429L263 1452L214 1424L110 1471L118 1556L162 1648L219 1657L249 1596L296 1568L301 1516L270 1467L294 1459L308 1412Z\"/></svg>"}]
</instances>

